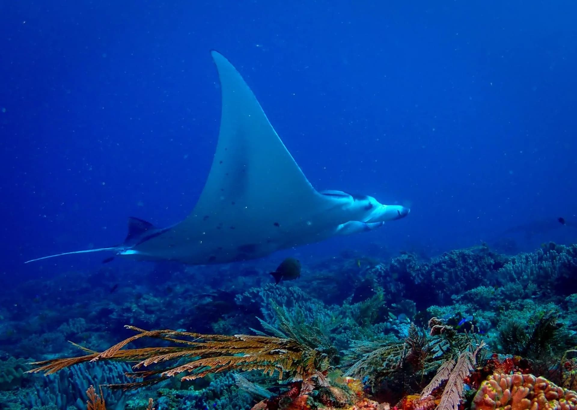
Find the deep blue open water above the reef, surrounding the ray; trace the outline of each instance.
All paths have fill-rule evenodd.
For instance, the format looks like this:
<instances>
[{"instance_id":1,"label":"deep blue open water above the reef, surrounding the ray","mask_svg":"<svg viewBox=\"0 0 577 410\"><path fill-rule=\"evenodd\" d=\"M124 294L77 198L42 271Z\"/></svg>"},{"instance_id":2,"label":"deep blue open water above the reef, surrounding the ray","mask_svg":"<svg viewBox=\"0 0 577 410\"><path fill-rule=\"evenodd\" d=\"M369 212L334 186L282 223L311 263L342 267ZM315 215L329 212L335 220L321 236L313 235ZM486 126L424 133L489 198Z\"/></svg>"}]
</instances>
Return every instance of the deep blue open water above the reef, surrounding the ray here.
<instances>
[{"instance_id":1,"label":"deep blue open water above the reef, surrounding the ray","mask_svg":"<svg viewBox=\"0 0 577 410\"><path fill-rule=\"evenodd\" d=\"M194 206L218 135L209 50L242 73L318 189L411 207L299 248L438 252L551 221L575 241L577 3L0 2L0 273L91 269L126 217ZM136 262L134 262L136 263Z\"/></svg>"}]
</instances>

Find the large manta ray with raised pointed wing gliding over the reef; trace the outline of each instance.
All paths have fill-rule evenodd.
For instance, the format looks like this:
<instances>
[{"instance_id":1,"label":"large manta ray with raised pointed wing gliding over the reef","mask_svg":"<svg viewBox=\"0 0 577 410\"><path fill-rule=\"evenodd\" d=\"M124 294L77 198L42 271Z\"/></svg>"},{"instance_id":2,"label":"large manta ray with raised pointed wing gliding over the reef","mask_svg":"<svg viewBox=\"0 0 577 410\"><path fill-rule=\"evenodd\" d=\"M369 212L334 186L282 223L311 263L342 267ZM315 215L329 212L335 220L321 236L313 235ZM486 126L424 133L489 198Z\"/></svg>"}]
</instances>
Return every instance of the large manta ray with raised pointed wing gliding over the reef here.
<instances>
[{"instance_id":1,"label":"large manta ray with raised pointed wing gliding over the reef","mask_svg":"<svg viewBox=\"0 0 577 410\"><path fill-rule=\"evenodd\" d=\"M314 189L241 74L222 54L211 54L222 91L220 130L207 181L188 217L167 228L131 217L120 245L28 262L109 251L136 260L230 263L370 231L409 214L407 207L371 196Z\"/></svg>"}]
</instances>

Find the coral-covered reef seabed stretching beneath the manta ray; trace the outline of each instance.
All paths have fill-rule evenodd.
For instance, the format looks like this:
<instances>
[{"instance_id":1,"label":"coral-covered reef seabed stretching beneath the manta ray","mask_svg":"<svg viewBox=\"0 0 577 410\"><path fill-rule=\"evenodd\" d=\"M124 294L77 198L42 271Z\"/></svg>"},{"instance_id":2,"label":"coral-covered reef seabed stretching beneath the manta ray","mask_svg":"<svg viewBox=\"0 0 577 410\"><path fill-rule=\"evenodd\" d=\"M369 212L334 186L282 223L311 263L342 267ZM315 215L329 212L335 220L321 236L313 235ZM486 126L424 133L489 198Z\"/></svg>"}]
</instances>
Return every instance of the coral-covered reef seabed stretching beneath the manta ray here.
<instances>
[{"instance_id":1,"label":"coral-covered reef seabed stretching beneath the manta ray","mask_svg":"<svg viewBox=\"0 0 577 410\"><path fill-rule=\"evenodd\" d=\"M90 385L108 408L134 410L149 397L157 410L462 409L495 373L577 387L576 245L519 255L481 245L430 259L349 252L279 285L268 275L276 265L108 264L4 291L0 408L84 409ZM85 356L55 359L75 354L66 340ZM27 357L62 370L27 373Z\"/></svg>"}]
</instances>

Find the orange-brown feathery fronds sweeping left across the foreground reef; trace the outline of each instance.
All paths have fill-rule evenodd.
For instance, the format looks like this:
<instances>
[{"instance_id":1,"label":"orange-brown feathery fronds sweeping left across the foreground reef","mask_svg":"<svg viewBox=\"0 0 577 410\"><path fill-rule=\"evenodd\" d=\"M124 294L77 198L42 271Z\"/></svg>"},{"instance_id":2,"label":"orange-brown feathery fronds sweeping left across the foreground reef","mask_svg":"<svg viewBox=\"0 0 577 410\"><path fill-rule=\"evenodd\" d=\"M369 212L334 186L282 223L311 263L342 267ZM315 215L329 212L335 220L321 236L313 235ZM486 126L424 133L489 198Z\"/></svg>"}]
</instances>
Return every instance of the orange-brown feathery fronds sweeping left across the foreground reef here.
<instances>
[{"instance_id":1,"label":"orange-brown feathery fronds sweeping left across the foreground reef","mask_svg":"<svg viewBox=\"0 0 577 410\"><path fill-rule=\"evenodd\" d=\"M40 367L30 372L53 374L62 368L85 361L122 360L137 361L138 363L133 366L134 371L126 376L142 378L143 381L111 385L111 387L132 389L157 383L182 372L188 373L181 377L182 380L191 380L228 370L260 370L270 375L278 373L279 379L282 379L284 374L288 374L293 381L302 381L302 392L312 389L313 378L320 385L325 384L322 372L329 366L327 355L290 338L207 335L175 330L146 331L134 326L125 327L137 331L138 334L102 353L84 349L89 353L88 355L35 362L33 364L38 364ZM143 337L160 339L177 346L123 349L130 342ZM190 359L190 361L185 364L175 363L183 358ZM158 363L164 362L172 362L172 366L160 366L160 368L157 366ZM135 370L148 366L152 368Z\"/></svg>"}]
</instances>

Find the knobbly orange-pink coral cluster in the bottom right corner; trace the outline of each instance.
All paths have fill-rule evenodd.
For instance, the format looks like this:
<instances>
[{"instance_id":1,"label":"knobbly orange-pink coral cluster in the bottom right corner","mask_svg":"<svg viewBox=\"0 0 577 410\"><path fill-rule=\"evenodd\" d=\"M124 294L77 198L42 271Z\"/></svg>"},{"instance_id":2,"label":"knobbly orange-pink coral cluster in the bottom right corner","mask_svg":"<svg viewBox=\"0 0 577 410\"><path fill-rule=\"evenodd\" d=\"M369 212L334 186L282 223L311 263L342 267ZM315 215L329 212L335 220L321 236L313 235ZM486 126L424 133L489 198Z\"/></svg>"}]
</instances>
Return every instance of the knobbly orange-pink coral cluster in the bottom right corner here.
<instances>
[{"instance_id":1,"label":"knobbly orange-pink coral cluster in the bottom right corner","mask_svg":"<svg viewBox=\"0 0 577 410\"><path fill-rule=\"evenodd\" d=\"M494 374L481 384L472 410L575 410L577 393L531 374Z\"/></svg>"}]
</instances>

